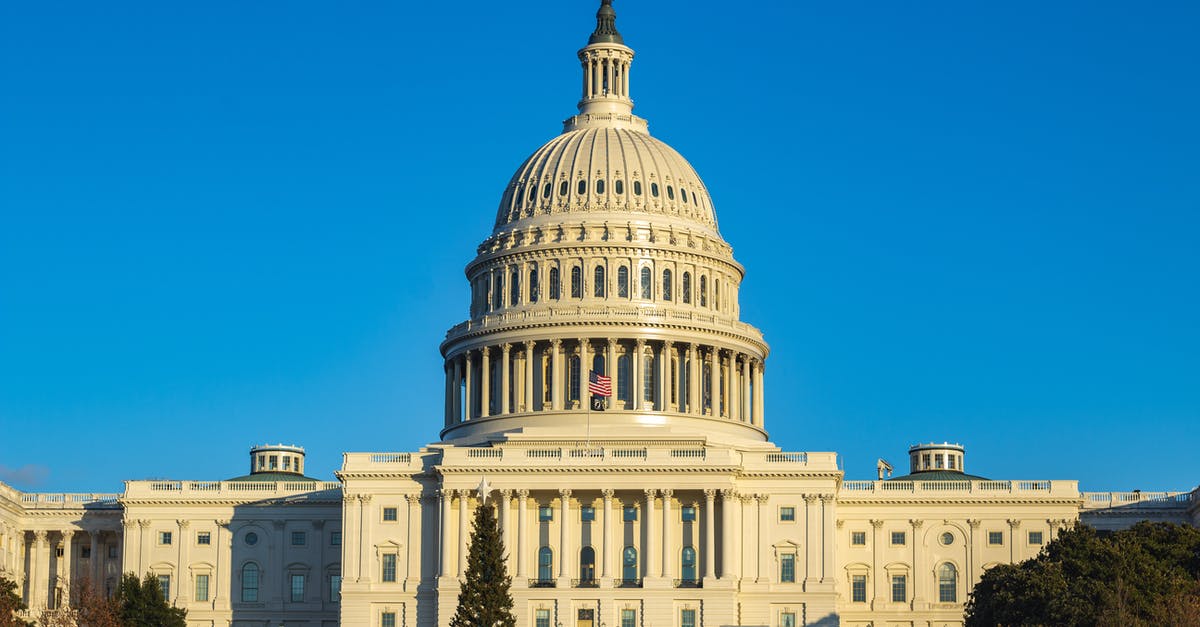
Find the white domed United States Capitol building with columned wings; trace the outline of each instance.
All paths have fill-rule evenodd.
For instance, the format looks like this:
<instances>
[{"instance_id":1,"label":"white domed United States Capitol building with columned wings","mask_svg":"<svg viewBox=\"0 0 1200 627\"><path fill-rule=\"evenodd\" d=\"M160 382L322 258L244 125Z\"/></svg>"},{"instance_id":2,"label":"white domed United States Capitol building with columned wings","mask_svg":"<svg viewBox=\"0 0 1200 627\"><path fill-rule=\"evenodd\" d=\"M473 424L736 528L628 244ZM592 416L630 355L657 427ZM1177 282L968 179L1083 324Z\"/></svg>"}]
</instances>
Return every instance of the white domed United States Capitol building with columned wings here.
<instances>
[{"instance_id":1,"label":"white domed United States Capitol building with columned wings","mask_svg":"<svg viewBox=\"0 0 1200 627\"><path fill-rule=\"evenodd\" d=\"M337 482L268 444L224 480L0 484L0 577L31 616L134 572L192 626L444 627L485 496L523 627L956 626L985 569L1076 520L1200 525L1196 491L984 478L955 443L876 480L778 448L745 269L697 173L634 115L608 0L577 54L578 113L520 165L467 267L439 440L346 453ZM595 407L590 371L612 384Z\"/></svg>"}]
</instances>

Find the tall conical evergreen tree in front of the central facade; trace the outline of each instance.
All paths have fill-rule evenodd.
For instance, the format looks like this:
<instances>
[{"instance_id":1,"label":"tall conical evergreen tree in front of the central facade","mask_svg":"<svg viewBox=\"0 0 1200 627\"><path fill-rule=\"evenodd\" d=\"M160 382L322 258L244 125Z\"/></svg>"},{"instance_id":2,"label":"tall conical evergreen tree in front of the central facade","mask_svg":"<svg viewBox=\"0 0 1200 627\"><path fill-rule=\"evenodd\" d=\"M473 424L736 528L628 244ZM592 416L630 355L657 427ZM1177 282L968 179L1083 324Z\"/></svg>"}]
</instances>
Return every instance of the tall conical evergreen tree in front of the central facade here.
<instances>
[{"instance_id":1,"label":"tall conical evergreen tree in front of the central facade","mask_svg":"<svg viewBox=\"0 0 1200 627\"><path fill-rule=\"evenodd\" d=\"M467 577L450 627L515 627L511 585L496 513L492 506L480 504L470 531Z\"/></svg>"}]
</instances>

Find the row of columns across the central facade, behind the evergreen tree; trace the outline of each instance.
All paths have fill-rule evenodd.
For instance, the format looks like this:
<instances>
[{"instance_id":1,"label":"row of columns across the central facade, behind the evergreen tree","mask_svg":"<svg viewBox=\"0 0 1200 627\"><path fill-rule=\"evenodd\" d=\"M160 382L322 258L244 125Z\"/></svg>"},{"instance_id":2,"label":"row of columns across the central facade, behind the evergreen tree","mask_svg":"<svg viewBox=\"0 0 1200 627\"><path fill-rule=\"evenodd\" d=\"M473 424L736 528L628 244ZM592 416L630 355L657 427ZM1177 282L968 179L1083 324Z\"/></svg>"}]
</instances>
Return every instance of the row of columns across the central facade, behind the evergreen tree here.
<instances>
[{"instance_id":1,"label":"row of columns across the central facade, behind the evergreen tree","mask_svg":"<svg viewBox=\"0 0 1200 627\"><path fill-rule=\"evenodd\" d=\"M604 504L600 512L600 547L596 551L599 579L614 579L622 572L620 548L623 544L613 543L616 532L613 518L613 502L616 492L611 489L600 491ZM474 490L442 490L438 492L440 542L442 554L438 561L438 573L442 577L461 577L466 572L466 559L469 544L467 533L467 520L470 516L468 501L475 495ZM638 551L638 573L642 577L659 577L662 579L674 579L677 575L676 562L680 555L683 545L676 541L674 516L672 515L674 504L674 491L671 489L646 489L643 490L644 502L640 503L641 529L644 533L644 544ZM716 497L721 497L721 525L720 533L716 526ZM559 539L554 548L556 563L554 572L560 586L568 585L568 578L572 572L572 563L578 560L582 547L572 547L571 530L581 529L575 525L576 520L571 503L572 490L558 490L559 498ZM510 514L512 500L516 498L516 533ZM454 526L456 516L451 515L452 501L457 500L457 529ZM697 577L712 580L718 577L716 557L718 544L720 545L720 579L748 579L756 583L773 581L775 573L773 568L772 547L769 542L755 542L750 538L767 538L767 525L770 516L768 507L769 495L766 494L740 494L734 490L703 490L703 504L696 503L697 529L703 536L697 550ZM808 495L806 526L805 526L805 573L806 583L834 581L834 507L833 495ZM530 578L529 557L535 555L540 543L530 537L529 522L536 513L539 503L530 504L529 490L499 490L499 525L500 537L505 547L510 548L510 572L514 578L524 580ZM634 501L620 500L622 504L631 504ZM656 520L658 504L661 503L662 520ZM576 508L578 504L575 506ZM700 516L703 515L704 524L700 526ZM618 545L620 544L620 545ZM455 547L454 551L448 548ZM750 547L750 550L745 550ZM754 550L757 548L757 550ZM454 560L457 555L457 561ZM799 557L799 556L798 556ZM616 561L614 561L616 560ZM515 563L511 563L515 562ZM800 565L797 563L797 567ZM702 569L702 572L700 571Z\"/></svg>"}]
</instances>

